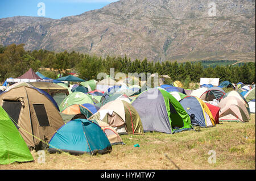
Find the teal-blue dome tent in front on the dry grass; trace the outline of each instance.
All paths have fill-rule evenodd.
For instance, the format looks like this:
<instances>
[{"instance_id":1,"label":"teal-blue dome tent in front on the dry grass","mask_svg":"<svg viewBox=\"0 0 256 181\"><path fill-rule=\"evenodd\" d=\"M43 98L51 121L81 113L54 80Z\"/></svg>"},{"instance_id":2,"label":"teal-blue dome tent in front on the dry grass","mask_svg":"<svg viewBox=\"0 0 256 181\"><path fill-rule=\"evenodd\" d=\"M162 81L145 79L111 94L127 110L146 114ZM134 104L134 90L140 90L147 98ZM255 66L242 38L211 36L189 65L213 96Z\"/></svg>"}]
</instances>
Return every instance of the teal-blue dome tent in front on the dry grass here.
<instances>
[{"instance_id":1,"label":"teal-blue dome tent in front on the dry grass","mask_svg":"<svg viewBox=\"0 0 256 181\"><path fill-rule=\"evenodd\" d=\"M65 151L70 154L106 154L112 151L108 137L93 121L75 119L65 123L49 141L49 153Z\"/></svg>"}]
</instances>

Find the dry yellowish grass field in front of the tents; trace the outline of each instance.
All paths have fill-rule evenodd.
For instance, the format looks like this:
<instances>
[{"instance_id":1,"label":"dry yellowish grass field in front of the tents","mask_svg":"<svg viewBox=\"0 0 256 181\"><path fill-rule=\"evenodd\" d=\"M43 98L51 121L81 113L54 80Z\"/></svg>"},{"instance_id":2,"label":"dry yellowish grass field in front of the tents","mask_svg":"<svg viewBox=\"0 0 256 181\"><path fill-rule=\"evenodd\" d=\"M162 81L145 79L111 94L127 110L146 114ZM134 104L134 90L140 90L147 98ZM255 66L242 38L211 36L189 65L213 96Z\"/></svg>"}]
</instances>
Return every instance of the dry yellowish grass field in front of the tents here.
<instances>
[{"instance_id":1,"label":"dry yellowish grass field in front of the tents","mask_svg":"<svg viewBox=\"0 0 256 181\"><path fill-rule=\"evenodd\" d=\"M249 123L223 122L198 132L121 137L126 145L113 146L109 154L74 156L46 151L45 163L39 163L38 153L31 151L34 162L0 165L0 169L255 169L255 114L251 114ZM208 154L210 150L216 153L216 163L208 162L213 156Z\"/></svg>"}]
</instances>

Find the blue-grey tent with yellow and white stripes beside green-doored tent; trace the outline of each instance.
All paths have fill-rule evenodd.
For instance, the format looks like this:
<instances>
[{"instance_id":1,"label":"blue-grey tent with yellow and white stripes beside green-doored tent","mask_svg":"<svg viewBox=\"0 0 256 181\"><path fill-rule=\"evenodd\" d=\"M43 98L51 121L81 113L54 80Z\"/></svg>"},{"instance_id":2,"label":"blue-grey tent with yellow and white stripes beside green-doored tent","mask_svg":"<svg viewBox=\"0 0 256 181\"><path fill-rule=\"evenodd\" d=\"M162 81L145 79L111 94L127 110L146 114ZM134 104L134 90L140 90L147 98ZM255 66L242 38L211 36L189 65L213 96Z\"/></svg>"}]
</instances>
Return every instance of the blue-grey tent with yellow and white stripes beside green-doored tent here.
<instances>
[{"instance_id":1,"label":"blue-grey tent with yellow and white stripes beside green-doored tent","mask_svg":"<svg viewBox=\"0 0 256 181\"><path fill-rule=\"evenodd\" d=\"M195 120L191 120L191 122L193 121L200 127L213 127L215 125L212 112L201 99L196 96L187 96L179 102L189 116L195 115Z\"/></svg>"}]
</instances>

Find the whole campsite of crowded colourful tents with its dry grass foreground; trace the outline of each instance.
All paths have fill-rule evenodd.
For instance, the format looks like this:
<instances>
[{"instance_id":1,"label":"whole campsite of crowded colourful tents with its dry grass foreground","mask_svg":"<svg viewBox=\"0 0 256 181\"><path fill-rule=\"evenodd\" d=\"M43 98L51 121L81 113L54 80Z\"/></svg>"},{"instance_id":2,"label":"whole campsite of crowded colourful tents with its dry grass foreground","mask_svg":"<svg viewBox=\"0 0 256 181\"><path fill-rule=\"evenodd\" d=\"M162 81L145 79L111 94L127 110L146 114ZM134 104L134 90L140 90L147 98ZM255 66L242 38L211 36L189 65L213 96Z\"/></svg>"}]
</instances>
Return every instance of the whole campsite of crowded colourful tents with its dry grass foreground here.
<instances>
[{"instance_id":1,"label":"whole campsite of crowded colourful tents with its dry grass foreground","mask_svg":"<svg viewBox=\"0 0 256 181\"><path fill-rule=\"evenodd\" d=\"M255 85L45 78L1 87L0 169L255 169Z\"/></svg>"}]
</instances>

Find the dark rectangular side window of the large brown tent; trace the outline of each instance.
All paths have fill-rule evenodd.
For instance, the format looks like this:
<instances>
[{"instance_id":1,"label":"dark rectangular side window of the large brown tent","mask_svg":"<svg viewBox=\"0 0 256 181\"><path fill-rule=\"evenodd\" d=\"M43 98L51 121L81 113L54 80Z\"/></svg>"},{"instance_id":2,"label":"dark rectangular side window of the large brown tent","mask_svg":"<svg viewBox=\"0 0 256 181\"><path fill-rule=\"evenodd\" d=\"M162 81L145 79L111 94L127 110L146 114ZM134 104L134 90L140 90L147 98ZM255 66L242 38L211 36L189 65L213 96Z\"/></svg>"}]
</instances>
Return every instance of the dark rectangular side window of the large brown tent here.
<instances>
[{"instance_id":1,"label":"dark rectangular side window of the large brown tent","mask_svg":"<svg viewBox=\"0 0 256 181\"><path fill-rule=\"evenodd\" d=\"M49 120L46 113L46 108L44 104L33 104L34 110L36 112L36 117L38 117L38 122L40 127L48 127Z\"/></svg>"}]
</instances>

